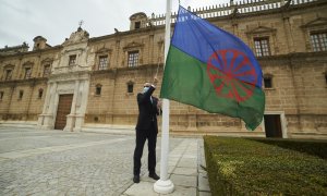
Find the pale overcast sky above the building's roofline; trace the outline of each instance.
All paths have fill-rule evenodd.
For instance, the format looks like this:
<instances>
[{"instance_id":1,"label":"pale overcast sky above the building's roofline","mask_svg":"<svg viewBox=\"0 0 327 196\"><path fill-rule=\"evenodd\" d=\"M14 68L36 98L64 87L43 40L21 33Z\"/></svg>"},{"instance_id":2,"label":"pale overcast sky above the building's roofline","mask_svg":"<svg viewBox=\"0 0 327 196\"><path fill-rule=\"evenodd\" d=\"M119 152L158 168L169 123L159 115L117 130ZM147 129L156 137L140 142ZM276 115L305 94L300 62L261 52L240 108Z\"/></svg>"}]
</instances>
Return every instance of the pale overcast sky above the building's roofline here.
<instances>
[{"instance_id":1,"label":"pale overcast sky above the building's roofline","mask_svg":"<svg viewBox=\"0 0 327 196\"><path fill-rule=\"evenodd\" d=\"M179 0L172 1L178 11ZM180 0L192 9L227 3L229 0ZM144 12L165 14L166 0L0 0L0 48L24 41L33 48L33 39L43 36L50 46L61 45L84 21L82 28L90 37L110 35L114 28L129 30L130 16Z\"/></svg>"}]
</instances>

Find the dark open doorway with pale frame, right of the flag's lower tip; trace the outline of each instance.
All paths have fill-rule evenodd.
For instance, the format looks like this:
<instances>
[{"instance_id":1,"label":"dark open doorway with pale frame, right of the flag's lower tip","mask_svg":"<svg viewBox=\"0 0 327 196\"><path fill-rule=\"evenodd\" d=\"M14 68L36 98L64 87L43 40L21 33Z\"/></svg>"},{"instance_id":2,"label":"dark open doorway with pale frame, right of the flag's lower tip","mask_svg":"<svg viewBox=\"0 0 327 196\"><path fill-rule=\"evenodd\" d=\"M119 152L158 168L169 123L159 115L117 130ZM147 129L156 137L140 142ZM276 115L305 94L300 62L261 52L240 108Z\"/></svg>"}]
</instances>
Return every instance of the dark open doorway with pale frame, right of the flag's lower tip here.
<instances>
[{"instance_id":1,"label":"dark open doorway with pale frame, right of the flag's lower tip","mask_svg":"<svg viewBox=\"0 0 327 196\"><path fill-rule=\"evenodd\" d=\"M280 114L265 114L266 137L282 138Z\"/></svg>"}]
</instances>

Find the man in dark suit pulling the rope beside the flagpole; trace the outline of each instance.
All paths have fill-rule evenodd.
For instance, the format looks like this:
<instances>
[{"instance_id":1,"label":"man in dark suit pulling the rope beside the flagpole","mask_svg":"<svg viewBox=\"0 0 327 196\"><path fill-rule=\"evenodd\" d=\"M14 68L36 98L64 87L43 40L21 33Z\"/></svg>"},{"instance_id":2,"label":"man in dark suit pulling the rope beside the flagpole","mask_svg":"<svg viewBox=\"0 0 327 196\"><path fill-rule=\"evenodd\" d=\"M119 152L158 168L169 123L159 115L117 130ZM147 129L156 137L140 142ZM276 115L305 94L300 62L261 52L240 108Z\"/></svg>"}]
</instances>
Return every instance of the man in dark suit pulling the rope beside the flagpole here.
<instances>
[{"instance_id":1,"label":"man in dark suit pulling the rope beside the flagpole","mask_svg":"<svg viewBox=\"0 0 327 196\"><path fill-rule=\"evenodd\" d=\"M157 115L160 113L160 101L153 97L155 83L145 83L142 93L137 94L138 119L136 124L136 147L134 150L134 183L140 183L141 158L145 140L148 143L148 176L154 180L160 177L156 174L156 145L158 134Z\"/></svg>"}]
</instances>

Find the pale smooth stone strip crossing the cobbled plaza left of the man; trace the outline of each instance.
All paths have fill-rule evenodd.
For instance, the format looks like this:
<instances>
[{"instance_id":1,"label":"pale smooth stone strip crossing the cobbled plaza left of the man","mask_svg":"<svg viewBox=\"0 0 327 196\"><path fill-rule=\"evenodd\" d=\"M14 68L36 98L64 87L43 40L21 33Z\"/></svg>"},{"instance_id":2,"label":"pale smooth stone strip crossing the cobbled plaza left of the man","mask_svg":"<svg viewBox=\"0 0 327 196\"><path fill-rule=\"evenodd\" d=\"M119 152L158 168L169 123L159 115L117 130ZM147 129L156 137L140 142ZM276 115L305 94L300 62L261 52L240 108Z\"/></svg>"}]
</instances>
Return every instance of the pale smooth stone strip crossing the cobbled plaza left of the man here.
<instances>
[{"instance_id":1,"label":"pale smooth stone strip crossing the cobbled plaza left of the man","mask_svg":"<svg viewBox=\"0 0 327 196\"><path fill-rule=\"evenodd\" d=\"M71 149L96 146L96 145L112 144L112 143L119 143L119 142L129 140L129 139L132 139L132 138L114 138L114 139L84 143L84 144L51 146L51 147L45 147L45 148L3 152L3 154L0 154L0 160L1 159L17 159L17 158L29 157L29 156L34 156L34 155L49 154L49 152L53 152L53 151L64 151L64 150L71 150Z\"/></svg>"}]
</instances>

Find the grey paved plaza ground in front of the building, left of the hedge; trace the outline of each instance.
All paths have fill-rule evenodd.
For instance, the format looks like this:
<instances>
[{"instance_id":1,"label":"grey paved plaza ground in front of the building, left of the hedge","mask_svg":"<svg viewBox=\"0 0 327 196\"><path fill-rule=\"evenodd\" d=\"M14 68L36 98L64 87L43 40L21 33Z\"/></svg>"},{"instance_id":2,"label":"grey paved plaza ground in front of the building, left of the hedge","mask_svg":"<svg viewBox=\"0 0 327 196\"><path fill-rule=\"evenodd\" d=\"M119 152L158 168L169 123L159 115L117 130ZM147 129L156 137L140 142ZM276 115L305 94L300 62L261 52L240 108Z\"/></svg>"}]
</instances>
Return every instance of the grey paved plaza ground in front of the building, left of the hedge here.
<instances>
[{"instance_id":1,"label":"grey paved plaza ground in front of the building, left of the hedge","mask_svg":"<svg viewBox=\"0 0 327 196\"><path fill-rule=\"evenodd\" d=\"M141 183L132 181L133 131L74 133L0 125L0 195L159 195L147 176L147 145ZM157 172L160 169L157 144ZM210 195L202 138L170 138L170 195Z\"/></svg>"}]
</instances>

